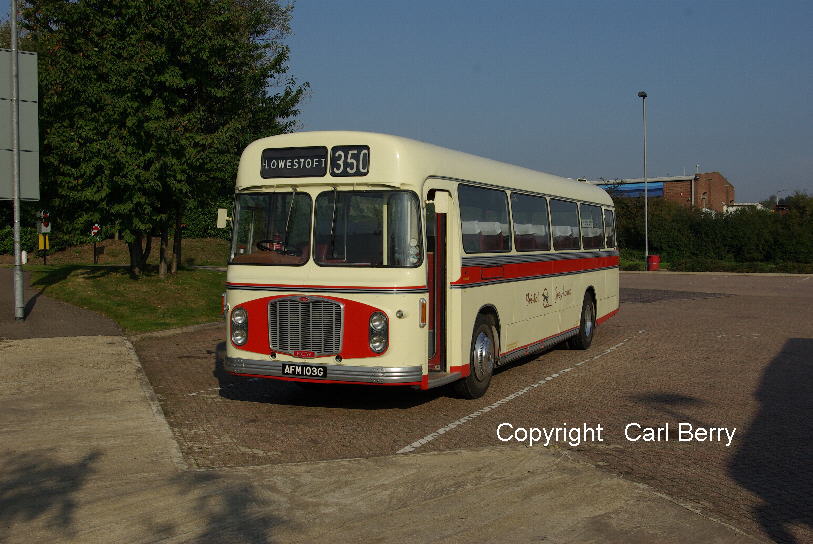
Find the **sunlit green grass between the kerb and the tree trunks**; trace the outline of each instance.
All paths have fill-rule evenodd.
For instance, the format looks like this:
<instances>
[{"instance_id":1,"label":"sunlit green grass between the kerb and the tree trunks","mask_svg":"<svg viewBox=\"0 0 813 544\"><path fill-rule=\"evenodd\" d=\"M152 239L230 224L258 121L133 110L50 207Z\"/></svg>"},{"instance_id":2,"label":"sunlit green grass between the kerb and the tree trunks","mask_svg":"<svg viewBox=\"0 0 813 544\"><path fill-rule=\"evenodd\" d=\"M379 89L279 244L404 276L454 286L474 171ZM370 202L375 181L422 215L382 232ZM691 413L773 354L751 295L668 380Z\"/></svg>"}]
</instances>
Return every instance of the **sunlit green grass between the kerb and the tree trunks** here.
<instances>
[{"instance_id":1,"label":"sunlit green grass between the kerb and the tree trunks","mask_svg":"<svg viewBox=\"0 0 813 544\"><path fill-rule=\"evenodd\" d=\"M34 287L75 306L99 312L128 333L208 323L221 318L224 272L179 270L161 279L151 271L139 279L127 267L27 266Z\"/></svg>"}]
</instances>

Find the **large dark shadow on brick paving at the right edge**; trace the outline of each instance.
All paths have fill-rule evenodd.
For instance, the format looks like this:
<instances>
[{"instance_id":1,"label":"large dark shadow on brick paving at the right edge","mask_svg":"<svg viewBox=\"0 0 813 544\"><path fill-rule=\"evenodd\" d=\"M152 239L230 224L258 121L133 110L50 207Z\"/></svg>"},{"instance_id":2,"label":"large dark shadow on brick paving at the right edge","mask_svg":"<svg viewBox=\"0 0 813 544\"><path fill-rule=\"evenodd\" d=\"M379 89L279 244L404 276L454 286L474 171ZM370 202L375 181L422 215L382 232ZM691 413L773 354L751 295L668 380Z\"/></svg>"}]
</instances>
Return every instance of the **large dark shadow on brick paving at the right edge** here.
<instances>
[{"instance_id":1,"label":"large dark shadow on brick paving at the right edge","mask_svg":"<svg viewBox=\"0 0 813 544\"><path fill-rule=\"evenodd\" d=\"M768 365L755 393L759 412L728 467L762 499L754 515L775 542L801 542L792 526L813 531L811 353L813 338L791 338Z\"/></svg>"}]
</instances>

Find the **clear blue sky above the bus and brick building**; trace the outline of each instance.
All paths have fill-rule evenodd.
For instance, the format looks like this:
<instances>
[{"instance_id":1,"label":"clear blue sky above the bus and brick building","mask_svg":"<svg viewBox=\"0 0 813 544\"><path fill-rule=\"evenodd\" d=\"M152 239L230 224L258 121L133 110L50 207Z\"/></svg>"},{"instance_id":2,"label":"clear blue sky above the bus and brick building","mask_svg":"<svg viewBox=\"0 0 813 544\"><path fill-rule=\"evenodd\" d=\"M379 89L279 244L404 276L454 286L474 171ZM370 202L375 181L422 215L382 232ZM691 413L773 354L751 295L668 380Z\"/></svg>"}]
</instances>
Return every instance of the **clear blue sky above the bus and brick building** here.
<instances>
[{"instance_id":1,"label":"clear blue sky above the bus and brick building","mask_svg":"<svg viewBox=\"0 0 813 544\"><path fill-rule=\"evenodd\" d=\"M650 177L813 194L813 2L298 0L286 43L301 130L642 177L644 90Z\"/></svg>"}]
</instances>

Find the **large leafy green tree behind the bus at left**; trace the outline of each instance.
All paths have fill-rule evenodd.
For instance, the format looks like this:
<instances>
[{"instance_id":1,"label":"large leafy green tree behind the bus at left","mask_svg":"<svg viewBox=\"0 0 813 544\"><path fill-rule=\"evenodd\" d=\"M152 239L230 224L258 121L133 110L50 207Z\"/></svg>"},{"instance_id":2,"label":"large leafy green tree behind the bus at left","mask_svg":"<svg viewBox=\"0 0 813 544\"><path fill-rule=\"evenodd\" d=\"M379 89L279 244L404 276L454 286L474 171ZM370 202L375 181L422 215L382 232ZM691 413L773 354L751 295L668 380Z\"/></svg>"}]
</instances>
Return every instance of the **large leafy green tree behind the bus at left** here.
<instances>
[{"instance_id":1,"label":"large leafy green tree behind the bus at left","mask_svg":"<svg viewBox=\"0 0 813 544\"><path fill-rule=\"evenodd\" d=\"M290 131L307 84L287 77L278 0L28 0L40 51L42 178L82 231L119 229L141 274L153 232L231 190L240 151Z\"/></svg>"}]
</instances>

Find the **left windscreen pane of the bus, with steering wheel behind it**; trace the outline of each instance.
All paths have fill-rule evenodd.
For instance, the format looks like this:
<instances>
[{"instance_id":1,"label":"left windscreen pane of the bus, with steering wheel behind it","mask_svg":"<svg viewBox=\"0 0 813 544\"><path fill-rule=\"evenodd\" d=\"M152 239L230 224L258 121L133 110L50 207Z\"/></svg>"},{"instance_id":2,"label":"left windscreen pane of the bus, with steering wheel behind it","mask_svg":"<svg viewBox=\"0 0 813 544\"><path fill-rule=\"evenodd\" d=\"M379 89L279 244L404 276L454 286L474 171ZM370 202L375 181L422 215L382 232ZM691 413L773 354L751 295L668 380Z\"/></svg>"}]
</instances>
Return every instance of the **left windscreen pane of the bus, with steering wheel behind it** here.
<instances>
[{"instance_id":1,"label":"left windscreen pane of the bus, with steering wheel behind it","mask_svg":"<svg viewBox=\"0 0 813 544\"><path fill-rule=\"evenodd\" d=\"M310 253L307 193L237 195L232 264L301 265Z\"/></svg>"}]
</instances>

